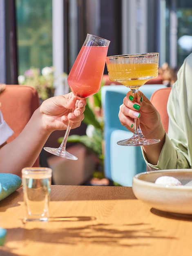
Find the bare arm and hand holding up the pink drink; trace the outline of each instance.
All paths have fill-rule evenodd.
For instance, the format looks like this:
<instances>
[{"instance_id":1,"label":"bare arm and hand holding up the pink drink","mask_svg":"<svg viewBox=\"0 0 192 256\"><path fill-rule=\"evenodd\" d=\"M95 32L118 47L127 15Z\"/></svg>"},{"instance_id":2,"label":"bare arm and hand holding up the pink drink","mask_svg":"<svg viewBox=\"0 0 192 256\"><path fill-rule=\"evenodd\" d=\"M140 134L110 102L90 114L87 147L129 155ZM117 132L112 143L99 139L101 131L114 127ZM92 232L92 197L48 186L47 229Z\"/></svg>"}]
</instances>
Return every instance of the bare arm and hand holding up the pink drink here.
<instances>
[{"instance_id":1,"label":"bare arm and hand holding up the pink drink","mask_svg":"<svg viewBox=\"0 0 192 256\"><path fill-rule=\"evenodd\" d=\"M71 110L75 108L74 113ZM86 101L76 100L72 93L44 101L33 113L20 135L0 148L0 172L21 175L21 169L32 166L49 135L54 130L65 130L69 119L72 128L80 126Z\"/></svg>"}]
</instances>

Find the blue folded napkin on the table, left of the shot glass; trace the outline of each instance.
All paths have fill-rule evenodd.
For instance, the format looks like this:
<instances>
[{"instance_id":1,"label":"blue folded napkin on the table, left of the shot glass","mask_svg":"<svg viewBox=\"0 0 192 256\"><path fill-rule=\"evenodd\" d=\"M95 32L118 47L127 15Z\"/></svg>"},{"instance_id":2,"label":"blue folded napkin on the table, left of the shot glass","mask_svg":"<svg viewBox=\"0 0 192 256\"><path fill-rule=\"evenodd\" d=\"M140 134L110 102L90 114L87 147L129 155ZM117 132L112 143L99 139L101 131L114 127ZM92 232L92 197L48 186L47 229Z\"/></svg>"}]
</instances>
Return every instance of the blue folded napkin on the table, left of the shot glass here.
<instances>
[{"instance_id":1,"label":"blue folded napkin on the table, left of the shot glass","mask_svg":"<svg viewBox=\"0 0 192 256\"><path fill-rule=\"evenodd\" d=\"M21 178L16 174L0 173L0 200L16 191L21 183Z\"/></svg>"}]
</instances>

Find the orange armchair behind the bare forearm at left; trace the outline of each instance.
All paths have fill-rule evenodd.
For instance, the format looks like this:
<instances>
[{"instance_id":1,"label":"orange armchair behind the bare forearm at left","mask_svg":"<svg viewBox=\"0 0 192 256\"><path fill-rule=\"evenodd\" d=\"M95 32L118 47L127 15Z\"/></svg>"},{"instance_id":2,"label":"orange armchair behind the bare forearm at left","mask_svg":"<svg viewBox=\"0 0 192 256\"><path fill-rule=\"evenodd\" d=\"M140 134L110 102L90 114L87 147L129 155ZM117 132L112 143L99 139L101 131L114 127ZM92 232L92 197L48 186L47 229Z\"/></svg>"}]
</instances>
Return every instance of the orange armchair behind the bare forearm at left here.
<instances>
[{"instance_id":1,"label":"orange armchair behind the bare forearm at left","mask_svg":"<svg viewBox=\"0 0 192 256\"><path fill-rule=\"evenodd\" d=\"M39 107L39 97L37 91L30 86L6 85L0 94L0 104L4 120L14 131L7 140L9 143L20 134L33 112ZM39 157L33 166L39 166Z\"/></svg>"}]
</instances>

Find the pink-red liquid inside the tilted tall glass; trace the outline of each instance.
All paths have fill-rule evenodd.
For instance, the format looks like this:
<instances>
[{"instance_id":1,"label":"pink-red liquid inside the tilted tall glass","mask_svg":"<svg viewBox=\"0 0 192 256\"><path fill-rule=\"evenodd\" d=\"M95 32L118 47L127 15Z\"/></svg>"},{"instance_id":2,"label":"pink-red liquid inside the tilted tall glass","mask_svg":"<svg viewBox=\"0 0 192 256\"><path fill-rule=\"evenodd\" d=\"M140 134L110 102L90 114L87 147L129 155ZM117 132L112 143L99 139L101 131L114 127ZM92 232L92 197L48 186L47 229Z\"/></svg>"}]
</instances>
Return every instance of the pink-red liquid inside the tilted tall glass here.
<instances>
[{"instance_id":1,"label":"pink-red liquid inside the tilted tall glass","mask_svg":"<svg viewBox=\"0 0 192 256\"><path fill-rule=\"evenodd\" d=\"M67 82L79 99L100 90L108 46L82 46Z\"/></svg>"}]
</instances>

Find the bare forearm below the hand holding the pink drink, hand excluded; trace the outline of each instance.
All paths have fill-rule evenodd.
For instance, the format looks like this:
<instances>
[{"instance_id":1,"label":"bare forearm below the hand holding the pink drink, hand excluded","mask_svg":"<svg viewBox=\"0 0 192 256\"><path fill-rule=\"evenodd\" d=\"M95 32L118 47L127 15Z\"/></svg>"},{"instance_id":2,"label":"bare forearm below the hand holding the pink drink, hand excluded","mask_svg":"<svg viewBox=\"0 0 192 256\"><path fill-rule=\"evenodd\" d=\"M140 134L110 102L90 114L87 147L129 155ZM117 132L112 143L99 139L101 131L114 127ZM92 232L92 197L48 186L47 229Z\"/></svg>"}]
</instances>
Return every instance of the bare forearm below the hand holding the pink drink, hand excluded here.
<instances>
[{"instance_id":1,"label":"bare forearm below the hand holding the pink drink, hand excluded","mask_svg":"<svg viewBox=\"0 0 192 256\"><path fill-rule=\"evenodd\" d=\"M21 176L21 169L34 164L50 132L42 128L39 110L34 112L20 135L0 149L0 173Z\"/></svg>"}]
</instances>

